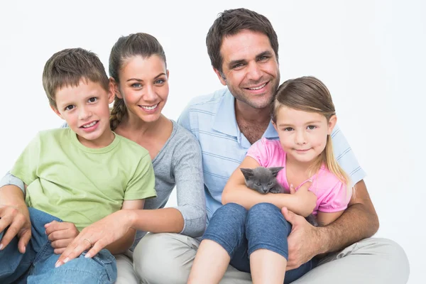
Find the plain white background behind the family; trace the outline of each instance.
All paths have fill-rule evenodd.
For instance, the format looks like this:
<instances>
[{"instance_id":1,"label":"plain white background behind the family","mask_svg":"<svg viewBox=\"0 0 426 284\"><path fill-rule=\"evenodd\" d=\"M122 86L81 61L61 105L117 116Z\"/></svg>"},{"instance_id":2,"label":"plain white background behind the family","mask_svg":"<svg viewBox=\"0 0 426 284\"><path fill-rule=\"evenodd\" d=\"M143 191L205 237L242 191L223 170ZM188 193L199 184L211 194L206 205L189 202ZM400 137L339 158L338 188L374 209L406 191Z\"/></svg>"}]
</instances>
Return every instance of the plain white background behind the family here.
<instances>
[{"instance_id":1,"label":"plain white background behind the family","mask_svg":"<svg viewBox=\"0 0 426 284\"><path fill-rule=\"evenodd\" d=\"M11 4L13 2L13 4ZM46 60L63 48L94 51L107 67L117 38L155 35L170 70L163 113L222 87L205 35L217 13L244 6L273 23L281 80L315 75L361 166L381 227L408 254L409 283L425 283L425 1L1 1L0 175L41 129L60 126L43 92ZM195 1L194 1L195 2ZM422 134L423 133L423 134ZM175 204L173 195L169 204ZM344 281L342 281L344 283Z\"/></svg>"}]
</instances>

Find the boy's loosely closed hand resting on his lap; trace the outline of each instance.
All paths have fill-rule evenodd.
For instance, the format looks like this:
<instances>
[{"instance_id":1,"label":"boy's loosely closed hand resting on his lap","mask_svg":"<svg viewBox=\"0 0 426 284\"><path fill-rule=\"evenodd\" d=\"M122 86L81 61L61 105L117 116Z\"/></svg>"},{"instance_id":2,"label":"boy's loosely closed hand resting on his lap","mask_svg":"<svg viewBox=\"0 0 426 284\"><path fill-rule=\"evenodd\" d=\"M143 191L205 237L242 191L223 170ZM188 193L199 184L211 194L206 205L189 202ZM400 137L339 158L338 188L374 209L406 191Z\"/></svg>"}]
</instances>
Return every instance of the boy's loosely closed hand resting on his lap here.
<instances>
[{"instance_id":1,"label":"boy's loosely closed hand resting on his lap","mask_svg":"<svg viewBox=\"0 0 426 284\"><path fill-rule=\"evenodd\" d=\"M80 234L75 224L69 222L52 221L45 224L45 228L48 239L52 242L53 252L56 254L64 252L72 240Z\"/></svg>"}]
</instances>

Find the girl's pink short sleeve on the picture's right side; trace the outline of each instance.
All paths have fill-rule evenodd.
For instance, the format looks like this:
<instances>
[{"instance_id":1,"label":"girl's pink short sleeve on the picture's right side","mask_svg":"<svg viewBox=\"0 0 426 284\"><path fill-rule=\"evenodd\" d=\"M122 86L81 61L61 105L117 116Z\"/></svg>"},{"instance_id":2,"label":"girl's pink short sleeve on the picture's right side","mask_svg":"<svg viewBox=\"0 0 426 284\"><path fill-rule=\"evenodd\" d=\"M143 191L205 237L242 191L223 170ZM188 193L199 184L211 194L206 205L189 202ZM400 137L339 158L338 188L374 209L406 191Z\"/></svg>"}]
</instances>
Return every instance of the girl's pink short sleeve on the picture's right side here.
<instances>
[{"instance_id":1,"label":"girl's pink short sleeve on the picture's right side","mask_svg":"<svg viewBox=\"0 0 426 284\"><path fill-rule=\"evenodd\" d=\"M337 182L318 206L318 211L325 213L342 211L348 207L350 199L351 190L348 190L343 182Z\"/></svg>"}]
</instances>

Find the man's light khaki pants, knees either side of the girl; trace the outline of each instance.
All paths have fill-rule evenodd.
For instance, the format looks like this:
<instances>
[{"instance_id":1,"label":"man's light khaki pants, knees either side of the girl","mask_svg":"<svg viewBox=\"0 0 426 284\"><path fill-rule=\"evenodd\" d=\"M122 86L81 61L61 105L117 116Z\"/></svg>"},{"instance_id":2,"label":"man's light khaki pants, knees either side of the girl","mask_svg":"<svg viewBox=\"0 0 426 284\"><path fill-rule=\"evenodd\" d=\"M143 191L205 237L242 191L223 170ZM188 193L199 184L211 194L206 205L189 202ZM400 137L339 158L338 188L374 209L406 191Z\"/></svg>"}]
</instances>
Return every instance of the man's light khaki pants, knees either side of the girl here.
<instances>
[{"instance_id":1,"label":"man's light khaki pants, knees either side of the girl","mask_svg":"<svg viewBox=\"0 0 426 284\"><path fill-rule=\"evenodd\" d=\"M200 241L180 234L146 234L133 253L142 283L186 283ZM322 259L293 283L407 283L410 268L403 249L388 239L369 238ZM249 273L229 266L220 282L249 284Z\"/></svg>"}]
</instances>

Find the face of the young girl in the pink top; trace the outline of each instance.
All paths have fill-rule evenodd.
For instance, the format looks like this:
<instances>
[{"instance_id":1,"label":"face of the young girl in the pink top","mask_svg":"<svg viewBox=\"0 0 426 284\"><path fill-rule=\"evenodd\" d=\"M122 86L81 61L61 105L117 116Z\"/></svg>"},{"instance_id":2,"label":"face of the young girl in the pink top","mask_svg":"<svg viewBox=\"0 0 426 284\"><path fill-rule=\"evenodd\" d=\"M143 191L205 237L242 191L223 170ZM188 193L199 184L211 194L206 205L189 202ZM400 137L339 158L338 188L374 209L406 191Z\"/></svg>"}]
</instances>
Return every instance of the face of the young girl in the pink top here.
<instances>
[{"instance_id":1,"label":"face of the young girl in the pink top","mask_svg":"<svg viewBox=\"0 0 426 284\"><path fill-rule=\"evenodd\" d=\"M329 121L322 114L300 111L282 106L278 109L276 124L273 124L288 160L311 163L324 151L327 135L336 125L337 117Z\"/></svg>"}]
</instances>

